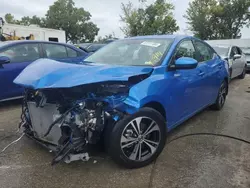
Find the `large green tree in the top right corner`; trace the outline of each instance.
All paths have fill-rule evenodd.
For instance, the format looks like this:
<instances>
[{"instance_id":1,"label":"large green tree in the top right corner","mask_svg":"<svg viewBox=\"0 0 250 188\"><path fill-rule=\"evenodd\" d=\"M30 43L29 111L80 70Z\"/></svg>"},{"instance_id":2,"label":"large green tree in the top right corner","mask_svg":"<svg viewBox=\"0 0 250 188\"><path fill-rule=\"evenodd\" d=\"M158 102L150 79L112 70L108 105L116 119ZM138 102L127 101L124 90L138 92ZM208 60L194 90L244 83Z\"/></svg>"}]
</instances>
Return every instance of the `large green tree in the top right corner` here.
<instances>
[{"instance_id":1,"label":"large green tree in the top right corner","mask_svg":"<svg viewBox=\"0 0 250 188\"><path fill-rule=\"evenodd\" d=\"M250 0L194 0L185 17L189 29L203 40L238 38L249 23L249 7Z\"/></svg>"}]
</instances>

